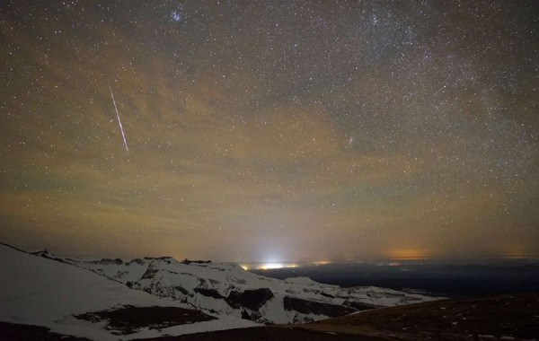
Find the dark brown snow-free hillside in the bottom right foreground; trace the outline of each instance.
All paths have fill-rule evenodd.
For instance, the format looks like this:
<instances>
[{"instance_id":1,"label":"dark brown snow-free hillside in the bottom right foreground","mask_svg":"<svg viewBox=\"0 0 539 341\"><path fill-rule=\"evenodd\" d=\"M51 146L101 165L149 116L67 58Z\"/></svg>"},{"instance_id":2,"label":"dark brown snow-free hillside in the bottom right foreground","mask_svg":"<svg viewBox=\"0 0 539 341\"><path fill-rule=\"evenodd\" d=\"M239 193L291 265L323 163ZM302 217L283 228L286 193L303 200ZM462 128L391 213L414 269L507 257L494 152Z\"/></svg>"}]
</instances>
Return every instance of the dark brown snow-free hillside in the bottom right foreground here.
<instances>
[{"instance_id":1,"label":"dark brown snow-free hillside in the bottom right foreground","mask_svg":"<svg viewBox=\"0 0 539 341\"><path fill-rule=\"evenodd\" d=\"M539 339L539 293L463 298L369 310L303 328L398 339Z\"/></svg>"}]
</instances>

